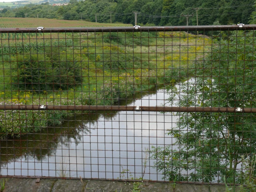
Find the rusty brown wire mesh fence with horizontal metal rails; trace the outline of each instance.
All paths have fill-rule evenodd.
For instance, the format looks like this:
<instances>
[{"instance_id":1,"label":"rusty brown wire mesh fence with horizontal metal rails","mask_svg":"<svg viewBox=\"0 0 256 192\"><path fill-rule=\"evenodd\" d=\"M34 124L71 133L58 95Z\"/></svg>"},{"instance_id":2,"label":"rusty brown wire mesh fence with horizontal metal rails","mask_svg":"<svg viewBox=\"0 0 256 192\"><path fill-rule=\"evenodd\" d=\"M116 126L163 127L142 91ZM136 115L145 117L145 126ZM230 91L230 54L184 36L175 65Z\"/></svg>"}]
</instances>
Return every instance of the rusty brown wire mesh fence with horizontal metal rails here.
<instances>
[{"instance_id":1,"label":"rusty brown wire mesh fence with horizontal metal rails","mask_svg":"<svg viewBox=\"0 0 256 192\"><path fill-rule=\"evenodd\" d=\"M255 180L255 27L0 29L0 171Z\"/></svg>"}]
</instances>

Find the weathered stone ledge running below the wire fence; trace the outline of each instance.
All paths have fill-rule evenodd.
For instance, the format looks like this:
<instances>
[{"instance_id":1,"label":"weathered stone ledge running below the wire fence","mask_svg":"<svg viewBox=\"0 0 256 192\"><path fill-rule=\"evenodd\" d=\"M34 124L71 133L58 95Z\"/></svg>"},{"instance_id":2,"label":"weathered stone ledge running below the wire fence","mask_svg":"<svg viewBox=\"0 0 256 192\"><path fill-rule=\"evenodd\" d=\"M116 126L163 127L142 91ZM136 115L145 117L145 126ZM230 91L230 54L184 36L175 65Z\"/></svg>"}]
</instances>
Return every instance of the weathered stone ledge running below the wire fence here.
<instances>
[{"instance_id":1,"label":"weathered stone ledge running below the wire fence","mask_svg":"<svg viewBox=\"0 0 256 192\"><path fill-rule=\"evenodd\" d=\"M69 179L40 179L36 183L36 178L0 178L1 185L2 180L7 180L2 192L226 192L220 185Z\"/></svg>"}]
</instances>

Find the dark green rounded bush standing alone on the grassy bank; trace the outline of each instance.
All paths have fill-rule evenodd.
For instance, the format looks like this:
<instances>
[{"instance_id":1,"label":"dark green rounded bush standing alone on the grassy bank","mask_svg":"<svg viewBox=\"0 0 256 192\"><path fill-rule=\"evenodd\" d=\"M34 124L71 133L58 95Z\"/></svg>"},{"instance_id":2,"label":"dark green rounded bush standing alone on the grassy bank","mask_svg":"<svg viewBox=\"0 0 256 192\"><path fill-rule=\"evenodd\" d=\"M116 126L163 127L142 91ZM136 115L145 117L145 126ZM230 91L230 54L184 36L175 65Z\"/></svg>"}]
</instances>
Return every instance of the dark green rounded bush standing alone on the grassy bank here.
<instances>
[{"instance_id":1,"label":"dark green rounded bush standing alone on the grassy bank","mask_svg":"<svg viewBox=\"0 0 256 192\"><path fill-rule=\"evenodd\" d=\"M68 89L81 83L79 62L66 61L66 55L59 57L56 61L43 54L18 56L12 75L19 90Z\"/></svg>"}]
</instances>

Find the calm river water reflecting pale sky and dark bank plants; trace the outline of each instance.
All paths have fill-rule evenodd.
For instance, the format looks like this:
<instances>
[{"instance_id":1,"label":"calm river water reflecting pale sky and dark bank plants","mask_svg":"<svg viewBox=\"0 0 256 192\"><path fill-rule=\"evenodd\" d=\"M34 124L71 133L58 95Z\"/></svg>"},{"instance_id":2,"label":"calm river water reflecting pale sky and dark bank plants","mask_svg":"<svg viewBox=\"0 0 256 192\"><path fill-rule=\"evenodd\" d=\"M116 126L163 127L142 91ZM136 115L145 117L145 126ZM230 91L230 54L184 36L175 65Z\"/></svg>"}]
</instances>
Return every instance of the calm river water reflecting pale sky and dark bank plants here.
<instances>
[{"instance_id":1,"label":"calm river water reflecting pale sky and dark bank plants","mask_svg":"<svg viewBox=\"0 0 256 192\"><path fill-rule=\"evenodd\" d=\"M151 90L119 104L161 106L168 97L164 89ZM61 126L2 140L1 174L161 180L147 150L170 145L165 133L176 121L171 114L146 111L76 114Z\"/></svg>"}]
</instances>

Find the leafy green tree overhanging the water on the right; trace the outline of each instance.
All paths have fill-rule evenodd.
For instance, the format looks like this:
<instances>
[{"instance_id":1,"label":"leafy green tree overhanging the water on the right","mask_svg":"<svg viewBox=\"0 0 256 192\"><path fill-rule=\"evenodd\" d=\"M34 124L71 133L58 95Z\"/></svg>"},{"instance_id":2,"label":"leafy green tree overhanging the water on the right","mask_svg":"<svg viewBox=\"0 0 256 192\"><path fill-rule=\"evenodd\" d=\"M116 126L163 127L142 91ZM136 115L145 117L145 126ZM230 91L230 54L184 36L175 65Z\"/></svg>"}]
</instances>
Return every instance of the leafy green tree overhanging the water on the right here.
<instances>
[{"instance_id":1,"label":"leafy green tree overhanging the water on the right","mask_svg":"<svg viewBox=\"0 0 256 192\"><path fill-rule=\"evenodd\" d=\"M223 32L214 38L212 54L190 68L196 83L180 85L180 92L187 93L180 95L175 86L169 86L168 102L175 102L178 96L180 107L255 107L256 85L251 83L256 81L253 33ZM251 147L256 145L255 114L176 115L180 116L177 127L167 132L175 142L165 148L153 147L152 152L152 159L157 159L155 166L164 178L193 182L215 182L218 178L223 183L255 187L256 148Z\"/></svg>"}]
</instances>

